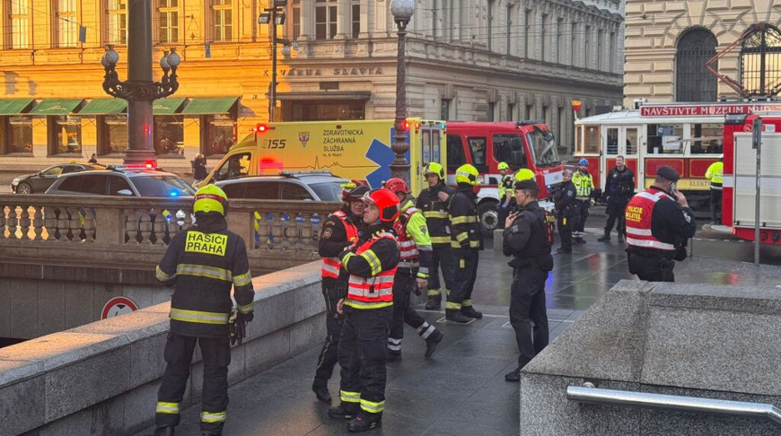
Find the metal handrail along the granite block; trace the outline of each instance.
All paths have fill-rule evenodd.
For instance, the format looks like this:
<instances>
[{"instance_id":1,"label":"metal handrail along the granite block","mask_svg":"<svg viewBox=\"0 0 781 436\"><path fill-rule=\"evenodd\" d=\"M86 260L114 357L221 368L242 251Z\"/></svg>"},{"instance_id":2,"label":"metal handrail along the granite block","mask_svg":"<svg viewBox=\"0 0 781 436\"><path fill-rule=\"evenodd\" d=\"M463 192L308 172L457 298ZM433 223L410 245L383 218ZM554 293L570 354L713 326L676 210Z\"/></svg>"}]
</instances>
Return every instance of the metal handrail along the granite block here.
<instances>
[{"instance_id":1,"label":"metal handrail along the granite block","mask_svg":"<svg viewBox=\"0 0 781 436\"><path fill-rule=\"evenodd\" d=\"M649 409L699 412L704 414L729 414L767 418L781 426L781 410L775 405L748 403L712 398L681 397L677 395L650 394L626 390L594 388L592 383L566 388L566 399L580 403L626 405Z\"/></svg>"}]
</instances>

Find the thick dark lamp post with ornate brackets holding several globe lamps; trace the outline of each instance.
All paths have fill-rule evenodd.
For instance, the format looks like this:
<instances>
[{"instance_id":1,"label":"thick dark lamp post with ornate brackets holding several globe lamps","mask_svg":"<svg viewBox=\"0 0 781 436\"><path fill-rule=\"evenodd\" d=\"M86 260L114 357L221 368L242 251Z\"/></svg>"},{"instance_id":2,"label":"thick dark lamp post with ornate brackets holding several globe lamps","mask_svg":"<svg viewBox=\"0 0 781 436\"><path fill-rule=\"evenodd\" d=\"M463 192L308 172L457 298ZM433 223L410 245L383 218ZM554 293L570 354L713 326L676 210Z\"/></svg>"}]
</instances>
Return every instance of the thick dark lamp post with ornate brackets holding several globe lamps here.
<instances>
[{"instance_id":1,"label":"thick dark lamp post with ornate brackets holding several globe lamps","mask_svg":"<svg viewBox=\"0 0 781 436\"><path fill-rule=\"evenodd\" d=\"M116 70L119 54L114 51L113 46L108 46L101 58L101 65L106 72L103 76L103 91L118 99L127 100L125 163L156 163L152 102L171 95L179 88L176 68L181 63L181 57L174 48L171 48L171 52L165 51L160 59L162 80L153 82L151 2L129 0L127 21L127 81L119 80Z\"/></svg>"}]
</instances>

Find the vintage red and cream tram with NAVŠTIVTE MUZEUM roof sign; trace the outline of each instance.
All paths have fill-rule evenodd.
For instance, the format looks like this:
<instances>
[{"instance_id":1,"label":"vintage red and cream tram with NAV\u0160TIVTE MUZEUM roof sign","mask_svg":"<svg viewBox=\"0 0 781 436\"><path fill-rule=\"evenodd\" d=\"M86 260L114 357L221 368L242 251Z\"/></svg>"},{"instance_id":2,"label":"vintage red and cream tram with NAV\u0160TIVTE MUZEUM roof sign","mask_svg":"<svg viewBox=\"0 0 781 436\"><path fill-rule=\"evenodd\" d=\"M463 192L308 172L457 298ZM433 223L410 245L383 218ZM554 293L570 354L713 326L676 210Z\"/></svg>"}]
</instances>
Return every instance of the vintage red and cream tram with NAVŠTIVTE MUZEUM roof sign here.
<instances>
[{"instance_id":1,"label":"vintage red and cream tram with NAV\u0160TIVTE MUZEUM roof sign","mask_svg":"<svg viewBox=\"0 0 781 436\"><path fill-rule=\"evenodd\" d=\"M619 155L635 172L636 189L651 186L659 167L671 166L680 173L678 189L689 203L707 209L710 182L705 173L725 152L724 116L772 109L781 110L781 104L645 103L639 109L581 118L575 121L575 157L589 161L597 188L605 186Z\"/></svg>"}]
</instances>

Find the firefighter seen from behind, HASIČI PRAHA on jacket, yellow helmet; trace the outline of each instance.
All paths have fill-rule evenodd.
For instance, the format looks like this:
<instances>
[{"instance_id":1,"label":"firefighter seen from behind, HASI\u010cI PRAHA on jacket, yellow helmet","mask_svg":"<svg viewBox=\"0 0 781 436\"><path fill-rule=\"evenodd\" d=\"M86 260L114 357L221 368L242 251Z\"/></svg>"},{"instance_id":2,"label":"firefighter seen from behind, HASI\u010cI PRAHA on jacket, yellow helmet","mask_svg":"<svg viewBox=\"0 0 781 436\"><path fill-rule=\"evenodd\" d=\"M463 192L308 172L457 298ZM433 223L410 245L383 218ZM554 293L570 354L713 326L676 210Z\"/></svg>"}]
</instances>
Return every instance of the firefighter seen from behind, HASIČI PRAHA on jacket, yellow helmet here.
<instances>
[{"instance_id":1,"label":"firefighter seen from behind, HASI\u010cI PRAHA on jacket, yellow helmet","mask_svg":"<svg viewBox=\"0 0 781 436\"><path fill-rule=\"evenodd\" d=\"M201 431L204 435L223 431L231 362L231 289L238 305L235 322L242 331L252 320L255 298L244 240L228 231L225 222L227 203L228 197L215 185L198 189L193 205L195 224L173 237L157 266L157 280L175 286L175 291L171 333L164 351L167 365L157 393L155 435L173 434L179 424L196 342L204 362Z\"/></svg>"}]
</instances>

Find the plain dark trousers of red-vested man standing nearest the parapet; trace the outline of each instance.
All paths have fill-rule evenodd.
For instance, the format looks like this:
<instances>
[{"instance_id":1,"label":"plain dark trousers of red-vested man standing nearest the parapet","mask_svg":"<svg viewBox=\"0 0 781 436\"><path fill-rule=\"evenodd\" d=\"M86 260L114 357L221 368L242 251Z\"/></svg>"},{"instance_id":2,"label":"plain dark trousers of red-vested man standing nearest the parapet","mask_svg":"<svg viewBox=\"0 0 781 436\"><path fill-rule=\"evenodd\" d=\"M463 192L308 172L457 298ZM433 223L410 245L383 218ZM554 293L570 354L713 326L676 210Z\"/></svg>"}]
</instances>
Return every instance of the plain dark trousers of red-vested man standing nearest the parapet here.
<instances>
[{"instance_id":1,"label":"plain dark trousers of red-vested man standing nearest the parapet","mask_svg":"<svg viewBox=\"0 0 781 436\"><path fill-rule=\"evenodd\" d=\"M339 336L342 335L344 315L337 311L337 303L344 298L345 285L340 283L322 283L322 295L326 301L326 339L322 344L320 356L317 360L317 370L314 373L314 384L325 386L328 384L334 366L338 362Z\"/></svg>"}]
</instances>

